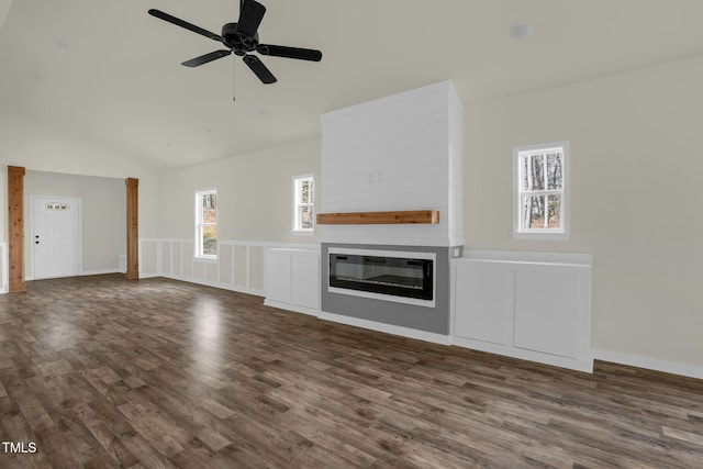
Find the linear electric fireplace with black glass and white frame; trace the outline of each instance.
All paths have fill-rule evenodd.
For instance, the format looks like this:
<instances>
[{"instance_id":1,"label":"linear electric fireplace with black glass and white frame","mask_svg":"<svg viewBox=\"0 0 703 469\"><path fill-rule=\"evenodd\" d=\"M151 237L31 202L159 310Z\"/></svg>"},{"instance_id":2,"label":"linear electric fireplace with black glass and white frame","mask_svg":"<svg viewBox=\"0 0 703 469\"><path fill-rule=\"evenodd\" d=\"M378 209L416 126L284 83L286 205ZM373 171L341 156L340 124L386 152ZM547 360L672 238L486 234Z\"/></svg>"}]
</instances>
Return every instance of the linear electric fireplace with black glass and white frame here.
<instances>
[{"instance_id":1,"label":"linear electric fireplace with black glass and white frame","mask_svg":"<svg viewBox=\"0 0 703 469\"><path fill-rule=\"evenodd\" d=\"M328 291L435 305L434 253L331 247Z\"/></svg>"}]
</instances>

